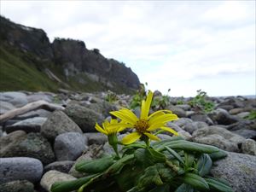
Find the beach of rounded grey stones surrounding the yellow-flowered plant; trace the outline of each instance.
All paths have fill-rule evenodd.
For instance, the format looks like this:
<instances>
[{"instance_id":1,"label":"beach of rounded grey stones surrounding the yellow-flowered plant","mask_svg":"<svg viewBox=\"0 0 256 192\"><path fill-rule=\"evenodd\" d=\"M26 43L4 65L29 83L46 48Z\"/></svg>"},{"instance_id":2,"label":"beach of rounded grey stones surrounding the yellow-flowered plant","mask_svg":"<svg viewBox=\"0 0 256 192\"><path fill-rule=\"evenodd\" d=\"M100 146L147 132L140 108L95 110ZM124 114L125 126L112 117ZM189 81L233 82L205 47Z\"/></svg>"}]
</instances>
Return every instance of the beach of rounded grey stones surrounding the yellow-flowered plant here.
<instances>
[{"instance_id":1,"label":"beach of rounded grey stones surrounding the yellow-flowered plant","mask_svg":"<svg viewBox=\"0 0 256 192\"><path fill-rule=\"evenodd\" d=\"M132 96L115 95L110 101L108 96L109 92L67 90L1 92L0 191L50 192L56 181L82 177L74 169L79 160L113 154L108 137L97 132L95 124L109 118L111 111L129 108ZM156 91L154 97L162 95ZM179 119L168 126L188 141L226 151L228 156L214 163L211 175L229 181L236 192L256 191L256 120L247 118L256 109L255 98L207 97L214 103L207 113L191 106L192 100L170 98L166 109ZM4 117L38 101L44 105ZM133 111L139 113L138 108ZM119 137L125 134L123 131ZM172 135L162 132L159 137L164 140Z\"/></svg>"}]
</instances>

